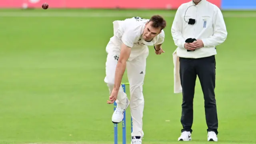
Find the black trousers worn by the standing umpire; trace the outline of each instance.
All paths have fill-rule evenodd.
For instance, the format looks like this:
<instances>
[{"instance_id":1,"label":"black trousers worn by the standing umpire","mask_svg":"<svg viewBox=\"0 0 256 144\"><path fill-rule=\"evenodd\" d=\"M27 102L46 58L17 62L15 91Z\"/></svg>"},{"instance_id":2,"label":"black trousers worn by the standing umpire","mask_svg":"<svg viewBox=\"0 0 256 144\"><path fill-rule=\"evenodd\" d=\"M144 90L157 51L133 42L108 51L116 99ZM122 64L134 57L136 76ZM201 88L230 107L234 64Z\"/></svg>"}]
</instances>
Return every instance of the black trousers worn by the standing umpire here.
<instances>
[{"instance_id":1,"label":"black trousers worn by the standing umpire","mask_svg":"<svg viewBox=\"0 0 256 144\"><path fill-rule=\"evenodd\" d=\"M180 58L180 81L182 86L182 116L181 132L192 133L193 123L193 99L195 93L196 76L200 80L204 94L204 108L207 131L214 131L218 134L218 116L215 100L215 56L206 58Z\"/></svg>"}]
</instances>

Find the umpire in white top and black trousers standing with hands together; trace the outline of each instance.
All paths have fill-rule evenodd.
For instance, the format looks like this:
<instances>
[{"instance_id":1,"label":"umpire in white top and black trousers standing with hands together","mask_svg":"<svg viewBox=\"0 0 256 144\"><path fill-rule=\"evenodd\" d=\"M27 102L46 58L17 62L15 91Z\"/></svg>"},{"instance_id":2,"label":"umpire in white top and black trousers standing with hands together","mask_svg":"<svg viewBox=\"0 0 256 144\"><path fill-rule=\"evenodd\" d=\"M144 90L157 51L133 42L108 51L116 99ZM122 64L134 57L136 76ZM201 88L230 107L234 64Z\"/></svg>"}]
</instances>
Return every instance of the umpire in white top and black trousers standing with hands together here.
<instances>
[{"instance_id":1,"label":"umpire in white top and black trousers standing with hands together","mask_svg":"<svg viewBox=\"0 0 256 144\"><path fill-rule=\"evenodd\" d=\"M198 76L204 94L208 141L218 141L218 116L215 100L216 46L227 37L220 9L206 0L182 4L172 24L172 37L178 48L180 83L182 86L183 129L178 140L191 140L193 99Z\"/></svg>"}]
</instances>

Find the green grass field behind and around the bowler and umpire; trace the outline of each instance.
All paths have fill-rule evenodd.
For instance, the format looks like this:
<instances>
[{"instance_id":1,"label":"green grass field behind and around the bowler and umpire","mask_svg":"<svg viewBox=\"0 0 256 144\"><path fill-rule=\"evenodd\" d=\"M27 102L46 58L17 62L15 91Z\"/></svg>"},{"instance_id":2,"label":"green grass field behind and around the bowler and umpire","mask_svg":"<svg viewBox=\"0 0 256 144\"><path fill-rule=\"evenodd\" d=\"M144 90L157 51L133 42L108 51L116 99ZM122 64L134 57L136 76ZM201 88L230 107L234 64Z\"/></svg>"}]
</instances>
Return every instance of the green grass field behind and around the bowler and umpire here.
<instances>
[{"instance_id":1,"label":"green grass field behind and around the bowler and umpire","mask_svg":"<svg viewBox=\"0 0 256 144\"><path fill-rule=\"evenodd\" d=\"M185 143L177 141L182 95L173 93L175 11L49 9L0 10L0 144L113 144L113 105L106 104L104 83L112 22L152 14L162 14L168 26L166 53L149 47L143 144ZM216 55L218 143L255 144L256 11L223 14L228 38ZM126 118L130 143L130 110ZM192 129L189 143L209 143L199 80ZM121 142L120 124L119 130Z\"/></svg>"}]
</instances>

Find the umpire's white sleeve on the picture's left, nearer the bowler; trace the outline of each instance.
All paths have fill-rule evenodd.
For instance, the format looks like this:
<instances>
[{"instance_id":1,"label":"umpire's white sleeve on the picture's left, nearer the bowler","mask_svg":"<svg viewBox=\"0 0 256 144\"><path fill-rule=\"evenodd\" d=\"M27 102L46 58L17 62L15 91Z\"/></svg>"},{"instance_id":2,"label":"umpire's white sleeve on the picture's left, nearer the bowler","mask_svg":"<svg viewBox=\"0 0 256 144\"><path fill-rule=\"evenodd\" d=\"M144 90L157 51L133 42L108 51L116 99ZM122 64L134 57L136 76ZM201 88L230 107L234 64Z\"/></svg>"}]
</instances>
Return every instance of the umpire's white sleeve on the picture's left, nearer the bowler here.
<instances>
[{"instance_id":1,"label":"umpire's white sleeve on the picture's left, nearer the bowler","mask_svg":"<svg viewBox=\"0 0 256 144\"><path fill-rule=\"evenodd\" d=\"M182 21L181 21L181 16L180 16L180 7L178 8L175 17L174 17L174 21L172 23L172 28L171 28L171 32L172 32L172 38L174 40L174 44L176 46L178 46L179 48L184 48L184 44L185 44L185 39L182 36Z\"/></svg>"}]
</instances>

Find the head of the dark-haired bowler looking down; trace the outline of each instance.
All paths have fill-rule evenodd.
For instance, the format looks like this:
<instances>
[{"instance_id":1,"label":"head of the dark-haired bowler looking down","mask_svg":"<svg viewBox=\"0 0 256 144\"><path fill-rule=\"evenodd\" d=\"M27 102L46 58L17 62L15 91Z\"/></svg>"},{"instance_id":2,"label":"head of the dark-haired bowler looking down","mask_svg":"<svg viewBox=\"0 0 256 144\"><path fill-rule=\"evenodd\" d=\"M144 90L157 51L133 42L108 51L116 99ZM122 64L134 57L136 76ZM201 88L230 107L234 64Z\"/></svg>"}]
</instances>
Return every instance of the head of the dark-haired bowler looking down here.
<instances>
[{"instance_id":1,"label":"head of the dark-haired bowler looking down","mask_svg":"<svg viewBox=\"0 0 256 144\"><path fill-rule=\"evenodd\" d=\"M155 36L160 34L161 30L166 27L166 21L162 16L154 15L146 23L144 31L142 33L142 38L145 41L151 41Z\"/></svg>"}]
</instances>

